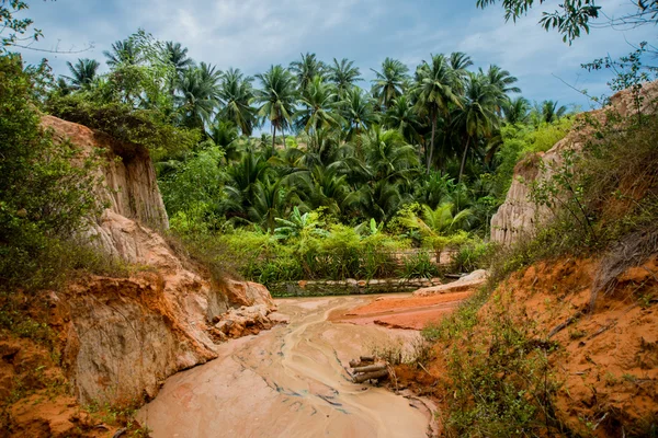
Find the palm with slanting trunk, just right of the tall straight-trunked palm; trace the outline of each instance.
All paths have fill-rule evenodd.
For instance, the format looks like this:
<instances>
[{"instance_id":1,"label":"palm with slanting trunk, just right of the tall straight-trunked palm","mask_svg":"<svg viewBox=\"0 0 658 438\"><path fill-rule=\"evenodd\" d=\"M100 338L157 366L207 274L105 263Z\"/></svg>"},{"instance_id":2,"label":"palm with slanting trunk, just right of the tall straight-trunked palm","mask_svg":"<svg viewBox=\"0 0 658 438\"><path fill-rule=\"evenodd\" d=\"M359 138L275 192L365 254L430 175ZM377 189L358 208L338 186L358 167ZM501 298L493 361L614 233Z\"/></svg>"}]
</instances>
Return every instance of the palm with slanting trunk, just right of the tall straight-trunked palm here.
<instances>
[{"instance_id":1,"label":"palm with slanting trunk, just right of the tall straight-trunked palm","mask_svg":"<svg viewBox=\"0 0 658 438\"><path fill-rule=\"evenodd\" d=\"M499 89L491 85L488 78L480 74L469 73L466 82L466 94L462 108L457 111L454 123L466 135L466 146L460 166L457 182L462 181L466 155L472 140L491 136L498 125L496 108L498 105Z\"/></svg>"}]
</instances>

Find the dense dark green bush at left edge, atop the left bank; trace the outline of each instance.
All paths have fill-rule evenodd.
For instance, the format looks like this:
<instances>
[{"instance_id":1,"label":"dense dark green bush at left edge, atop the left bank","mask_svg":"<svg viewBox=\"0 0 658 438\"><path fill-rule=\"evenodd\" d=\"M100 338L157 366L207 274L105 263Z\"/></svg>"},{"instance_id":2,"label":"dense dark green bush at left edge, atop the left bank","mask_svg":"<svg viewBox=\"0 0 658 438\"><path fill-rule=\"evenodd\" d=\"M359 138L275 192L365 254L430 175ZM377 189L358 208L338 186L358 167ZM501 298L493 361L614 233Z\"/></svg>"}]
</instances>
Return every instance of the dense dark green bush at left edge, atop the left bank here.
<instances>
[{"instance_id":1,"label":"dense dark green bush at left edge, atop the left bank","mask_svg":"<svg viewBox=\"0 0 658 438\"><path fill-rule=\"evenodd\" d=\"M20 57L0 57L0 279L5 290L55 287L70 269L99 268L91 250L67 243L99 211L92 193L98 157L81 158L68 142L54 145L31 103L31 88Z\"/></svg>"}]
</instances>

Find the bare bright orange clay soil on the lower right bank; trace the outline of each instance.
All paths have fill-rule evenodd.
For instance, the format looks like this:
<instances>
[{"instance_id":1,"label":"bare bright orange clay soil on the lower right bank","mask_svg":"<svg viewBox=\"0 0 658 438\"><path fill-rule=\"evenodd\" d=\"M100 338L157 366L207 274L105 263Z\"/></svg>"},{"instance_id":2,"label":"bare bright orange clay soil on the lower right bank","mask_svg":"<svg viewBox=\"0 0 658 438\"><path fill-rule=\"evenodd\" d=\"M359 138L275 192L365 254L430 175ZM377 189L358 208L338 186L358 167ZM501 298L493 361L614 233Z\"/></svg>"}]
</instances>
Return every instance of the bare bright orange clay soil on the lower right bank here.
<instances>
[{"instance_id":1,"label":"bare bright orange clay soil on the lower right bank","mask_svg":"<svg viewBox=\"0 0 658 438\"><path fill-rule=\"evenodd\" d=\"M549 357L563 383L555 407L564 425L583 436L643 436L658 423L658 254L617 276L612 290L599 293L593 312L565 324L588 311L598 268L591 260L538 263L512 275L494 295L520 315L520 324L535 322L540 336L564 326L551 338L559 347ZM478 325L486 325L491 302L478 312ZM474 335L490 336L477 327ZM396 374L398 388L432 397L441 418L452 392L445 346L435 351L427 369L400 366ZM593 433L587 423L598 425Z\"/></svg>"}]
</instances>

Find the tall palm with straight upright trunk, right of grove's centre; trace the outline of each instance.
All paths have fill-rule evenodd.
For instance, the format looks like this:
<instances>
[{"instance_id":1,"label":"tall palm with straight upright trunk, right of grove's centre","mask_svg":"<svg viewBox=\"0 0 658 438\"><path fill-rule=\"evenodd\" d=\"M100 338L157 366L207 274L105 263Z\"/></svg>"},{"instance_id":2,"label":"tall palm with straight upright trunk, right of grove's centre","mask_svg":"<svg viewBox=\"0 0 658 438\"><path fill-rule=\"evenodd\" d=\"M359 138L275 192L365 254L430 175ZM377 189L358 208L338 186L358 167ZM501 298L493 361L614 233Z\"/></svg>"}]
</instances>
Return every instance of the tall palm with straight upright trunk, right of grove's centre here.
<instances>
[{"instance_id":1,"label":"tall palm with straight upright trunk, right of grove's centre","mask_svg":"<svg viewBox=\"0 0 658 438\"><path fill-rule=\"evenodd\" d=\"M430 153L427 161L428 173L434 154L438 118L440 115L447 117L451 105L462 106L458 97L461 87L458 76L443 55L432 56L431 64L423 61L416 71L415 92L418 96L416 107L420 114L424 114L430 118L432 125Z\"/></svg>"}]
</instances>

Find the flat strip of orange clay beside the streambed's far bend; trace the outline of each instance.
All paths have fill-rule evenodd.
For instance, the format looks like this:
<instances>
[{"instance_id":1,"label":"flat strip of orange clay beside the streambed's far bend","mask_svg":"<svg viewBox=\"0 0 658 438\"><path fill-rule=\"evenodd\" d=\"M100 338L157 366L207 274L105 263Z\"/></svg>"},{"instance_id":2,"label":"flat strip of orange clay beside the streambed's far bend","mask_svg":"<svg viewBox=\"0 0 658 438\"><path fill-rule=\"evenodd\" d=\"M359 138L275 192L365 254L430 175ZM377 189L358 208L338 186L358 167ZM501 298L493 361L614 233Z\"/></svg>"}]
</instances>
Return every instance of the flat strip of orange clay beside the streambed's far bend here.
<instances>
[{"instance_id":1,"label":"flat strip of orange clay beside the streambed's far bend","mask_svg":"<svg viewBox=\"0 0 658 438\"><path fill-rule=\"evenodd\" d=\"M360 308L333 313L330 320L359 325L378 324L390 328L421 330L452 312L470 293L466 291L430 297L379 297Z\"/></svg>"}]
</instances>

